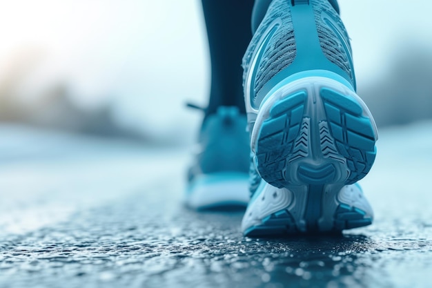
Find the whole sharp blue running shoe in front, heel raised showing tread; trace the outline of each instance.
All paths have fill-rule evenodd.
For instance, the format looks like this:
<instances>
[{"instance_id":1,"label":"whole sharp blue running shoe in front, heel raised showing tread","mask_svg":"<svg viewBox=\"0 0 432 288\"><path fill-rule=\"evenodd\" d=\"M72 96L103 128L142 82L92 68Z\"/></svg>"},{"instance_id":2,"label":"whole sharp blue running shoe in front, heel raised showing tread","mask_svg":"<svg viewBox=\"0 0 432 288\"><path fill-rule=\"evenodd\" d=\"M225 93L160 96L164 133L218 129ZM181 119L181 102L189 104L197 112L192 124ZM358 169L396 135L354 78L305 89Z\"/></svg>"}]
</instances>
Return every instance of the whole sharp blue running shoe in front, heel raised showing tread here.
<instances>
[{"instance_id":1,"label":"whole sharp blue running shoe in front, heel raised showing tread","mask_svg":"<svg viewBox=\"0 0 432 288\"><path fill-rule=\"evenodd\" d=\"M355 93L338 9L336 1L273 0L246 50L248 129L262 177L244 215L246 236L372 222L371 207L352 184L371 169L377 129Z\"/></svg>"}]
</instances>

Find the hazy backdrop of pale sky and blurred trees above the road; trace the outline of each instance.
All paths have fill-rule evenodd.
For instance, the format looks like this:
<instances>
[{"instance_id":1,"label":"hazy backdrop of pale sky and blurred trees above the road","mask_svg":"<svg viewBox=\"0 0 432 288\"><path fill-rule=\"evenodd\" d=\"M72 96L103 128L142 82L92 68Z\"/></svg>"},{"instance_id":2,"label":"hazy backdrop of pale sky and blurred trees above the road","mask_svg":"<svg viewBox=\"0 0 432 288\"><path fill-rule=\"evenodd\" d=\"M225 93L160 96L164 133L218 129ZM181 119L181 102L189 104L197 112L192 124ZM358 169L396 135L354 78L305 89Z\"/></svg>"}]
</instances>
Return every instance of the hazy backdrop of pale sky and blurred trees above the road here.
<instances>
[{"instance_id":1,"label":"hazy backdrop of pale sky and blurred trees above the road","mask_svg":"<svg viewBox=\"0 0 432 288\"><path fill-rule=\"evenodd\" d=\"M340 0L380 127L432 117L432 2ZM0 8L0 125L190 144L210 83L201 2L15 0ZM1 137L0 137L1 138Z\"/></svg>"}]
</instances>

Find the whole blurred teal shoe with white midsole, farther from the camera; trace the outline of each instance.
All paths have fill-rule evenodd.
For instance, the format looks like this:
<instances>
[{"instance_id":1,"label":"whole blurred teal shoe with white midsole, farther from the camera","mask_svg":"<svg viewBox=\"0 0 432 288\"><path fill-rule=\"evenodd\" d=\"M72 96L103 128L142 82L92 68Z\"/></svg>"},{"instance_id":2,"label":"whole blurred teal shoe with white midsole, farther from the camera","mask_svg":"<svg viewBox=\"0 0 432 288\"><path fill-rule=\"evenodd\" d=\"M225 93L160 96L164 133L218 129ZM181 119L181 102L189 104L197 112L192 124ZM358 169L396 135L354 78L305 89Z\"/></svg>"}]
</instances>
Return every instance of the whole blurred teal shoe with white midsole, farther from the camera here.
<instances>
[{"instance_id":1,"label":"whole blurred teal shoe with white midsole, farther from the camera","mask_svg":"<svg viewBox=\"0 0 432 288\"><path fill-rule=\"evenodd\" d=\"M222 106L204 120L188 171L186 204L193 209L244 206L249 201L250 163L246 115Z\"/></svg>"}]
</instances>

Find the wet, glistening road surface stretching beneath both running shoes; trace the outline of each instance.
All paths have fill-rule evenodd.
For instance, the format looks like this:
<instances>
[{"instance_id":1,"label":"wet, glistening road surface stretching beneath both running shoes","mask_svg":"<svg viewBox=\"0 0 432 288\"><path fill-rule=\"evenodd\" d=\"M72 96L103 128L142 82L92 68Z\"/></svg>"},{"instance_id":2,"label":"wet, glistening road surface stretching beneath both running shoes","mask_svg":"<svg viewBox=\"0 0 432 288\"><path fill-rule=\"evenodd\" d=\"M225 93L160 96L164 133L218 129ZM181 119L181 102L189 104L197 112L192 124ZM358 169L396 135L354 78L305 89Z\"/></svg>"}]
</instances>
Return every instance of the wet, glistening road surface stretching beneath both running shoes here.
<instances>
[{"instance_id":1,"label":"wet, glistening road surface stretching beneath both running shoes","mask_svg":"<svg viewBox=\"0 0 432 288\"><path fill-rule=\"evenodd\" d=\"M432 123L381 131L371 227L283 239L184 208L185 148L0 135L0 287L430 287Z\"/></svg>"}]
</instances>

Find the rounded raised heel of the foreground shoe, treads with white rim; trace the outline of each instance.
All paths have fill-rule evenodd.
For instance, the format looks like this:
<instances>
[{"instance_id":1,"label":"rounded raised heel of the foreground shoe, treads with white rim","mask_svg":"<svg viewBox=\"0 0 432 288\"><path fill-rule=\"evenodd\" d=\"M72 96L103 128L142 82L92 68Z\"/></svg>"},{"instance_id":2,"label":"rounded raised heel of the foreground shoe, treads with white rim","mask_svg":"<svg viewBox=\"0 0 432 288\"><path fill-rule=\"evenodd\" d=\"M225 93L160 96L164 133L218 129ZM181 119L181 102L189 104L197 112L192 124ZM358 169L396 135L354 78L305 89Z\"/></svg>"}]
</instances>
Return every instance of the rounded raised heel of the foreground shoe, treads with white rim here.
<instances>
[{"instance_id":1,"label":"rounded raised heel of the foreground shoe, treads with white rim","mask_svg":"<svg viewBox=\"0 0 432 288\"><path fill-rule=\"evenodd\" d=\"M267 97L252 150L259 175L278 188L344 185L369 172L376 140L360 97L333 79L308 77Z\"/></svg>"}]
</instances>

